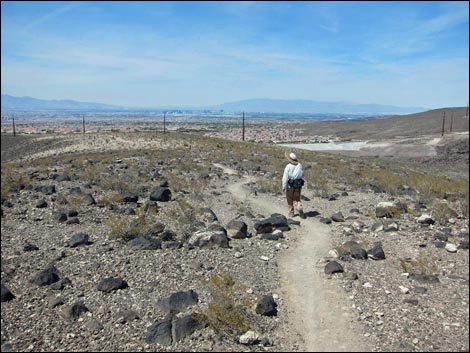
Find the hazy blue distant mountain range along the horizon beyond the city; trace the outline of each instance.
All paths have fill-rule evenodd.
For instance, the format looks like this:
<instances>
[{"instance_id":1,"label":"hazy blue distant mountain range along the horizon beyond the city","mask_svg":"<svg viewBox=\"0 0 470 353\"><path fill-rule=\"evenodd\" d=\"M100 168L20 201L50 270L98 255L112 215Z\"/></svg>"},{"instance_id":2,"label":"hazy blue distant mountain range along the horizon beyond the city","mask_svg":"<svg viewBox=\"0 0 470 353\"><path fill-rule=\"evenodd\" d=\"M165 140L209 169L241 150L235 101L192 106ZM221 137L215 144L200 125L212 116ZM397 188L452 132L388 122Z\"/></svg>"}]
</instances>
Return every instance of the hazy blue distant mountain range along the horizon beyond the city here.
<instances>
[{"instance_id":1,"label":"hazy blue distant mountain range along the horizon beyond the city","mask_svg":"<svg viewBox=\"0 0 470 353\"><path fill-rule=\"evenodd\" d=\"M355 104L349 102L322 102L305 99L248 99L205 107L123 107L103 103L78 102L74 100L45 100L32 97L14 97L2 94L1 109L8 111L34 110L101 110L101 111L138 111L138 110L211 110L247 113L291 113L291 114L410 114L427 110L423 107L397 107L380 104Z\"/></svg>"}]
</instances>

